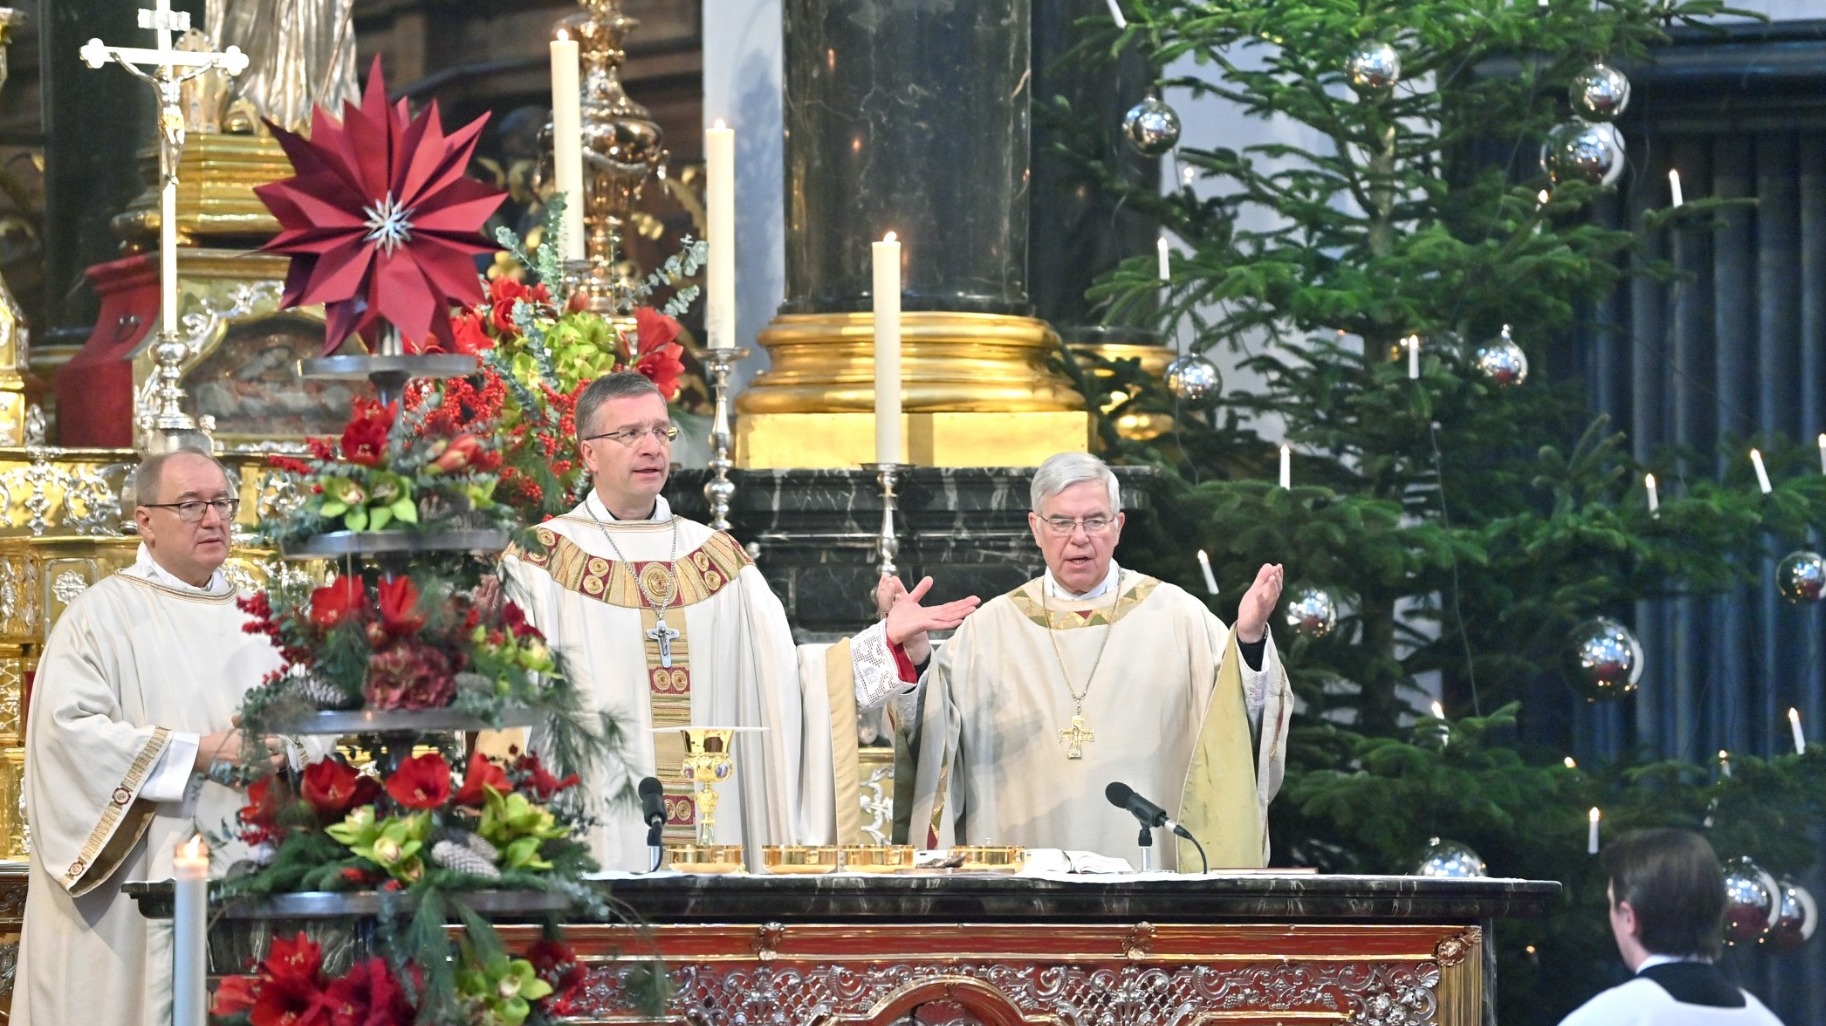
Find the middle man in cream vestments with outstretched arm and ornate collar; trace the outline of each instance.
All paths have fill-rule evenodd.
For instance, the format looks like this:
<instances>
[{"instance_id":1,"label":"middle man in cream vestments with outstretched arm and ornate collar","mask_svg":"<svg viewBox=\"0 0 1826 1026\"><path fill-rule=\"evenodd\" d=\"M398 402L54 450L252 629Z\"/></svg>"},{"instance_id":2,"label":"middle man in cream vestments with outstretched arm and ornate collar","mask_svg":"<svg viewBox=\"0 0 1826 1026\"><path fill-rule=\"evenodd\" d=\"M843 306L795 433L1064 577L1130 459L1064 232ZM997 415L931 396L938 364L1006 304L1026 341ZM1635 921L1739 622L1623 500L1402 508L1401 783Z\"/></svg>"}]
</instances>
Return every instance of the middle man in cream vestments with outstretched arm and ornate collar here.
<instances>
[{"instance_id":1,"label":"middle man in cream vestments with outstretched arm and ornate collar","mask_svg":"<svg viewBox=\"0 0 1826 1026\"><path fill-rule=\"evenodd\" d=\"M944 630L975 599L911 606L802 668L785 610L736 539L672 513L659 495L672 438L659 389L637 372L599 378L577 400L577 436L592 491L546 520L535 548L502 557L506 597L526 610L572 681L621 723L624 767L586 781L601 818L592 849L604 869L648 867L646 827L624 794L641 776L665 785L668 842L692 840L696 809L681 776L677 730L745 727L736 776L719 789L718 843L834 843L844 838L834 765L855 765L855 692L898 690L886 639ZM862 639L858 639L862 641ZM809 670L809 672L807 672ZM833 697L840 710L833 716ZM842 723L840 723L842 721ZM539 738L533 739L535 749Z\"/></svg>"}]
</instances>

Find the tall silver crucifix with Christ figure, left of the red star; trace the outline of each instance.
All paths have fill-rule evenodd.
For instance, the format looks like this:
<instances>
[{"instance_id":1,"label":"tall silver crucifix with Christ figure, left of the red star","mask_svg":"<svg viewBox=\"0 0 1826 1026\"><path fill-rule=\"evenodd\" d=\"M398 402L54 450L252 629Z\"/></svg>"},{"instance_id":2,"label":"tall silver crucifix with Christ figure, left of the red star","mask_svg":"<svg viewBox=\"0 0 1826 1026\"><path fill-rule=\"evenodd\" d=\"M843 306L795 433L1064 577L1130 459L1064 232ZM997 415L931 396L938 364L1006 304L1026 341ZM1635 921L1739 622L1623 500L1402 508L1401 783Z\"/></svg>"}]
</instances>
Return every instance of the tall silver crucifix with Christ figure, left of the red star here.
<instances>
[{"instance_id":1,"label":"tall silver crucifix with Christ figure, left of the red star","mask_svg":"<svg viewBox=\"0 0 1826 1026\"><path fill-rule=\"evenodd\" d=\"M159 338L152 356L157 363L157 411L141 414L148 451L172 449L183 444L208 442L197 422L184 413L179 387L184 356L190 345L177 334L177 159L184 150L184 110L181 88L208 71L223 69L239 75L247 55L230 46L223 53L177 49L172 37L190 29L190 13L173 11L172 0L157 0L153 9L141 9L139 27L152 29L153 47L106 46L91 38L82 46L82 62L100 68L113 60L159 95ZM144 66L144 68L142 68ZM210 425L203 425L208 431Z\"/></svg>"}]
</instances>

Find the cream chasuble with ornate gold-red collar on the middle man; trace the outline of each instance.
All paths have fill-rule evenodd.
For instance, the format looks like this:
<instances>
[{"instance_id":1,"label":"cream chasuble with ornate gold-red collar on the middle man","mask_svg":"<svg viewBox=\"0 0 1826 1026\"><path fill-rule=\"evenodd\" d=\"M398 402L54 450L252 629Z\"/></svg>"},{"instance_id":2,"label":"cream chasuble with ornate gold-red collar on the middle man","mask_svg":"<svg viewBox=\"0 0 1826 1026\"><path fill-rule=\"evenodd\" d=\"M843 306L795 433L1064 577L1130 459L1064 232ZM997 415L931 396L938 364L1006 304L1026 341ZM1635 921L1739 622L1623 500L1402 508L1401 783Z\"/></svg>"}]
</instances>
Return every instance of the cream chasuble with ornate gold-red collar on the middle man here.
<instances>
[{"instance_id":1,"label":"cream chasuble with ornate gold-red collar on the middle man","mask_svg":"<svg viewBox=\"0 0 1826 1026\"><path fill-rule=\"evenodd\" d=\"M665 785L666 842L694 836L683 741L677 732L654 734L656 727L760 727L736 734L736 778L718 792L718 843L749 845L752 865L763 843L824 843L834 831L825 686L816 681L802 694L785 610L760 570L732 537L683 517L674 539L665 498L652 520L612 520L593 495L584 502L593 506L539 526L546 551L511 548L502 568L506 595L546 633L595 708L623 728L626 765L588 781L597 862L648 867L641 809L623 800L643 776ZM659 632L654 604L672 590L674 562L677 588ZM807 730L825 738L807 741ZM822 758L807 758L807 747Z\"/></svg>"}]
</instances>

